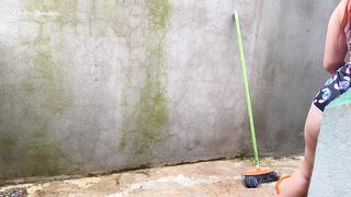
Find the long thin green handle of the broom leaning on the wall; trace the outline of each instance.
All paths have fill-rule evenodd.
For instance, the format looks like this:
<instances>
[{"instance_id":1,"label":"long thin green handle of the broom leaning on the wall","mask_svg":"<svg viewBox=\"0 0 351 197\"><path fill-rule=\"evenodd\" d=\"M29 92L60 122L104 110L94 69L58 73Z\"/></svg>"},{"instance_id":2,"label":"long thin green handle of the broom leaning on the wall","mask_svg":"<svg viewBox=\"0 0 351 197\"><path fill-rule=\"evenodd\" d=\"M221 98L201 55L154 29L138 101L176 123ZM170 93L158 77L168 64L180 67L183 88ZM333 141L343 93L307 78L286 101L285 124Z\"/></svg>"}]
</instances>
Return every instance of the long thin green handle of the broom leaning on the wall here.
<instances>
[{"instance_id":1,"label":"long thin green handle of the broom leaning on the wall","mask_svg":"<svg viewBox=\"0 0 351 197\"><path fill-rule=\"evenodd\" d=\"M244 45L242 45L241 31L240 31L239 14L237 12L235 12L234 16L235 16L234 21L235 21L237 36L238 36L238 45L239 45L239 53L240 53L242 79L244 79L245 93L246 93L246 103L248 105L248 115L249 115L249 121L250 121L250 131L251 131L251 141L252 141L252 148L253 148L254 165L259 166L260 165L260 160L259 160L259 153L258 153L258 150L257 150L257 141L256 141L256 135L254 135L252 106L251 106L250 91L249 91L249 80L248 80L248 74L247 74L247 70L246 70L246 61L245 61Z\"/></svg>"}]
</instances>

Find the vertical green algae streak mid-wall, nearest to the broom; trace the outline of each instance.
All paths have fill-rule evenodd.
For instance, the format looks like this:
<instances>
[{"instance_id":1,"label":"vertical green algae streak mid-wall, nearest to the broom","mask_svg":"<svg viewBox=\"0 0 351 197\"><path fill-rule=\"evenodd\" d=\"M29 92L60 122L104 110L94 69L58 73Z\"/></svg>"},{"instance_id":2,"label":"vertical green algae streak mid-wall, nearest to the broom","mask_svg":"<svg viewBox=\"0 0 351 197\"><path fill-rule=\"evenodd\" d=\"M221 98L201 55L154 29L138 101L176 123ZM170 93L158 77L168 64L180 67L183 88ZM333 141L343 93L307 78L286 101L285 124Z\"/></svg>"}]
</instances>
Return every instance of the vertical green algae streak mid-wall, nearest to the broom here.
<instances>
[{"instance_id":1,"label":"vertical green algae streak mid-wall, nearest to the broom","mask_svg":"<svg viewBox=\"0 0 351 197\"><path fill-rule=\"evenodd\" d=\"M149 151L162 141L168 124L166 36L170 16L168 0L148 0L145 84L136 104L134 117L124 117L120 147L131 144L136 153ZM132 119L132 123L131 123Z\"/></svg>"}]
</instances>

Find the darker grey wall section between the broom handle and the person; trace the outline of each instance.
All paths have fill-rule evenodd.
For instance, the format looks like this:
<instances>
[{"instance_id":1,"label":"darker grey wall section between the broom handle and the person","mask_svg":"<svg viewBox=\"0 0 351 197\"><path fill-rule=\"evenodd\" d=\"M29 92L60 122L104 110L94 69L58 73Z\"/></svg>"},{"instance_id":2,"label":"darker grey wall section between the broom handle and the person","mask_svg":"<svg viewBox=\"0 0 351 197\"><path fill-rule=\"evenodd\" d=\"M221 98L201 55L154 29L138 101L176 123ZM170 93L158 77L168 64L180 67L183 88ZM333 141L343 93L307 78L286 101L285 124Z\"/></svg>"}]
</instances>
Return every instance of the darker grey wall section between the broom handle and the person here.
<instances>
[{"instance_id":1,"label":"darker grey wall section between the broom handle and the person","mask_svg":"<svg viewBox=\"0 0 351 197\"><path fill-rule=\"evenodd\" d=\"M251 63L261 152L303 152L313 97L328 79L322 68L327 24L339 1L262 1Z\"/></svg>"}]
</instances>

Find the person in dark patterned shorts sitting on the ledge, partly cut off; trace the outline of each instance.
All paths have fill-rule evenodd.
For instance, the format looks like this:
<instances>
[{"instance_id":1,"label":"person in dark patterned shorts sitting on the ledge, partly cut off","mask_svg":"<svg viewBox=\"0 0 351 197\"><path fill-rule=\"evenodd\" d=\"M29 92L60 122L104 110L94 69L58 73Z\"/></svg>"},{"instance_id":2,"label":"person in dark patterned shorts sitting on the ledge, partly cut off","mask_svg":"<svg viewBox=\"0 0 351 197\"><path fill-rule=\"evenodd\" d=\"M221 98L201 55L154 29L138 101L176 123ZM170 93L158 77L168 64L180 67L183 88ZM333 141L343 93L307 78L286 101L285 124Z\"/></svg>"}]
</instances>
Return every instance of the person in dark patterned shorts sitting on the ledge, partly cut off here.
<instances>
[{"instance_id":1,"label":"person in dark patterned shorts sitting on the ledge, partly cut off","mask_svg":"<svg viewBox=\"0 0 351 197\"><path fill-rule=\"evenodd\" d=\"M312 102L305 124L305 153L299 169L280 184L280 197L307 196L314 167L319 125L325 107L350 86L351 62L344 63L351 49L351 0L341 0L332 12L327 31L324 68L332 76Z\"/></svg>"}]
</instances>

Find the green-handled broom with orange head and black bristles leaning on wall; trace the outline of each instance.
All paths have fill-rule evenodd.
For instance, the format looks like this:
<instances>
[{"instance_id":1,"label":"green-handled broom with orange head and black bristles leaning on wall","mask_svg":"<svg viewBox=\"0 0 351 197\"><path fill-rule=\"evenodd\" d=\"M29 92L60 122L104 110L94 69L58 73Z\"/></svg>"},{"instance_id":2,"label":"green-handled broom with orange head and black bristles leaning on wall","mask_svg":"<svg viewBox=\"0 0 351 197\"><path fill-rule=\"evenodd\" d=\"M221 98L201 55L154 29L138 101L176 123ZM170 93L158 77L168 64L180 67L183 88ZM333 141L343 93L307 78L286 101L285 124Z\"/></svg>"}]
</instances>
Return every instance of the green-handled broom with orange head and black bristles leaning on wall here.
<instances>
[{"instance_id":1,"label":"green-handled broom with orange head and black bristles leaning on wall","mask_svg":"<svg viewBox=\"0 0 351 197\"><path fill-rule=\"evenodd\" d=\"M241 31L240 31L240 22L239 22L239 14L237 11L234 13L234 21L236 26L236 32L238 36L238 45L239 45L239 54L240 54L240 61L241 61L241 69L242 69L242 79L245 85L245 93L246 93L246 103L248 106L248 116L250 123L250 134L251 134L251 142L253 148L253 160L254 160L254 169L248 170L244 174L244 185L248 188L254 188L263 183L276 182L280 176L276 172L269 167L260 167L260 159L257 149L257 141L254 135L254 125L253 125L253 115L252 115L252 107L251 107L251 100L250 100L250 92L249 92L249 81L246 70L246 61L245 61L245 54L244 54L244 45L241 38Z\"/></svg>"}]
</instances>

